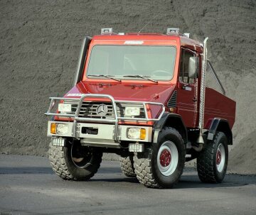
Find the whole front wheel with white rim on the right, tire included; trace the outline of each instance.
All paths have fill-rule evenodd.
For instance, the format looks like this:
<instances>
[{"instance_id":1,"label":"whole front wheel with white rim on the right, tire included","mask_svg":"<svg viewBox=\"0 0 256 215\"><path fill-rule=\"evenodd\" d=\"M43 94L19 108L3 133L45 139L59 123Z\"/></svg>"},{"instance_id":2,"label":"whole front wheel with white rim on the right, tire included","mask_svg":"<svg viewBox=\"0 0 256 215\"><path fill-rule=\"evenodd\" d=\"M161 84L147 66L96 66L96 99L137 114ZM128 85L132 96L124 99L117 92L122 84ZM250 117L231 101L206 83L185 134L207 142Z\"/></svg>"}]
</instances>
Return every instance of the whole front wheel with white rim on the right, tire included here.
<instances>
[{"instance_id":1,"label":"whole front wheel with white rim on the right, tire included","mask_svg":"<svg viewBox=\"0 0 256 215\"><path fill-rule=\"evenodd\" d=\"M137 179L146 187L171 188L181 178L185 163L183 139L171 127L159 132L157 144L152 143L151 152L134 155Z\"/></svg>"}]
</instances>

